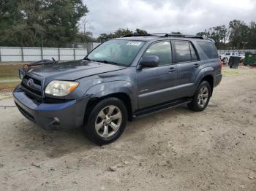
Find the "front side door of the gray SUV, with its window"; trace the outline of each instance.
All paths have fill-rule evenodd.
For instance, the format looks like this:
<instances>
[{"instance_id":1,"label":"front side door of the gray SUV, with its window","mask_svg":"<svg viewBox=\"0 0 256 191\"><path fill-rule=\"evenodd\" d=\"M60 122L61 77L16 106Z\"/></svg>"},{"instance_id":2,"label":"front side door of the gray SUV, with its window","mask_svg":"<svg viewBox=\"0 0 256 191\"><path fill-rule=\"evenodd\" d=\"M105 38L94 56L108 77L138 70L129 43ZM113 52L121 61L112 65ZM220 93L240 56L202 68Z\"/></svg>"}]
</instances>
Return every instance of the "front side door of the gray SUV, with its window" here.
<instances>
[{"instance_id":1,"label":"front side door of the gray SUV, with its window","mask_svg":"<svg viewBox=\"0 0 256 191\"><path fill-rule=\"evenodd\" d=\"M143 68L138 74L138 106L140 109L175 98L172 88L176 86L177 66L173 64L170 41L151 44L143 57L157 55L159 66Z\"/></svg>"}]
</instances>

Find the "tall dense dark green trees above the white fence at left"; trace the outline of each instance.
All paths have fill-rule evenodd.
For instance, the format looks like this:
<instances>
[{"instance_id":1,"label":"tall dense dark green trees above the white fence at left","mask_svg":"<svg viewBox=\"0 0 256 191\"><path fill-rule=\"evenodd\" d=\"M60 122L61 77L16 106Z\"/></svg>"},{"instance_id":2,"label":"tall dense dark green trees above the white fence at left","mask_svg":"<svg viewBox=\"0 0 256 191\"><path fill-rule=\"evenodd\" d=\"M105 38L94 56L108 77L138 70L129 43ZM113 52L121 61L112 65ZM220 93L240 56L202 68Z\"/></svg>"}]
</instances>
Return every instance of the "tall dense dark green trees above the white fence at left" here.
<instances>
[{"instance_id":1,"label":"tall dense dark green trees above the white fence at left","mask_svg":"<svg viewBox=\"0 0 256 191\"><path fill-rule=\"evenodd\" d=\"M4 1L0 12L4 9L6 20L11 23L0 20L0 40L4 39L1 46L67 46L78 35L80 18L88 12L82 0L9 0L15 4L0 1L1 5Z\"/></svg>"}]
</instances>

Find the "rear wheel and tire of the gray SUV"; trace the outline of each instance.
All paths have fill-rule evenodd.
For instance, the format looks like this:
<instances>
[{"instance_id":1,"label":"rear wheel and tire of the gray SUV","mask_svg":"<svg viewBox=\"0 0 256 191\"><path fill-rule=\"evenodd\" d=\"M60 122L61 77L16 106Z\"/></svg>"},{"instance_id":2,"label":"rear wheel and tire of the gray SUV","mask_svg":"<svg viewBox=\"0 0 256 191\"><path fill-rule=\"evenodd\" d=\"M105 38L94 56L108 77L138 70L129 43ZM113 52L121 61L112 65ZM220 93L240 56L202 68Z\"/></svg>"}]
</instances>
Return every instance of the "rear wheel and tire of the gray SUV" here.
<instances>
[{"instance_id":1,"label":"rear wheel and tire of the gray SUV","mask_svg":"<svg viewBox=\"0 0 256 191\"><path fill-rule=\"evenodd\" d=\"M207 97L206 97L207 94ZM195 95L193 95L192 102L187 104L189 109L195 112L201 112L206 109L210 101L211 85L207 81L203 81L198 85Z\"/></svg>"}]
</instances>

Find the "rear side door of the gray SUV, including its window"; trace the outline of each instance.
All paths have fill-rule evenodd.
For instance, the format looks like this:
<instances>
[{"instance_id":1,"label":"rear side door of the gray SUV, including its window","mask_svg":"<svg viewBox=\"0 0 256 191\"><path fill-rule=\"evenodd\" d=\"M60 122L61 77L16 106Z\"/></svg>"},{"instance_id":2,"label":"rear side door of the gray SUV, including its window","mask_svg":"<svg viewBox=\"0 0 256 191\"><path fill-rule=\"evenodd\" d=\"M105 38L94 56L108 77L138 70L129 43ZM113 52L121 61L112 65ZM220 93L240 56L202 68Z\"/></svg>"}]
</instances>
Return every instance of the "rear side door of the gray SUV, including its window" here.
<instances>
[{"instance_id":1,"label":"rear side door of the gray SUV, including its window","mask_svg":"<svg viewBox=\"0 0 256 191\"><path fill-rule=\"evenodd\" d=\"M200 61L192 42L174 41L175 63L178 67L177 98L191 96L194 92L194 82L200 71Z\"/></svg>"}]
</instances>

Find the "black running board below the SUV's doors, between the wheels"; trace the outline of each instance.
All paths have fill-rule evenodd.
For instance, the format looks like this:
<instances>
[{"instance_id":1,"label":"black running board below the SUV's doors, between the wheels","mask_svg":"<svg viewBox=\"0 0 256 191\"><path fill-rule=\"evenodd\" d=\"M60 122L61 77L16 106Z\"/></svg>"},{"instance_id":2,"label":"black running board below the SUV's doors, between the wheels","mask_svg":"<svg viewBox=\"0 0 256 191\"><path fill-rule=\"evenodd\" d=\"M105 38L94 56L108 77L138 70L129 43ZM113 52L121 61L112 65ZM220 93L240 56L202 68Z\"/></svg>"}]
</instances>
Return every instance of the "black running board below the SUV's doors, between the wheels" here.
<instances>
[{"instance_id":1,"label":"black running board below the SUV's doors, between the wheels","mask_svg":"<svg viewBox=\"0 0 256 191\"><path fill-rule=\"evenodd\" d=\"M192 101L192 99L185 99L185 100L178 100L178 101L171 101L171 102L165 102L165 104L158 104L156 106L151 106L150 108L142 109L138 112L135 112L133 117L143 117L148 114L153 114L156 112L163 111L165 109L170 109L176 106L181 106L184 104L189 104Z\"/></svg>"}]
</instances>

